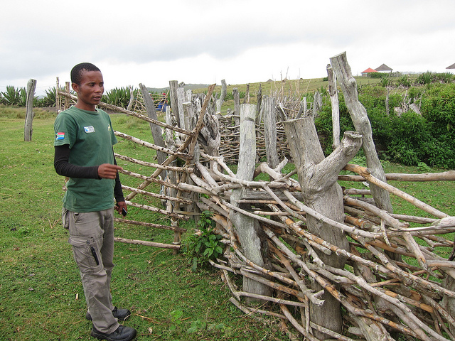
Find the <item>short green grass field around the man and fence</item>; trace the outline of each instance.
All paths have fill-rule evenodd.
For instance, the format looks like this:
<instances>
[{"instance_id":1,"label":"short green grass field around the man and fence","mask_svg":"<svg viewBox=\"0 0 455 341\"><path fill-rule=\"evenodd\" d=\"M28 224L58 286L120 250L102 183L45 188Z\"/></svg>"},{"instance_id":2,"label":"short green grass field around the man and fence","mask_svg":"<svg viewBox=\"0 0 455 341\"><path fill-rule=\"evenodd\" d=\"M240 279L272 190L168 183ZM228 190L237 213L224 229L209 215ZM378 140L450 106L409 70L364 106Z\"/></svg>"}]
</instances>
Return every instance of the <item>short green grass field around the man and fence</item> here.
<instances>
[{"instance_id":1,"label":"short green grass field around the man and fence","mask_svg":"<svg viewBox=\"0 0 455 341\"><path fill-rule=\"evenodd\" d=\"M68 234L60 224L63 178L53 169L55 114L38 112L33 139L25 142L23 112L0 107L0 340L93 340ZM123 114L113 114L112 121L117 131L151 141L148 124ZM119 141L115 151L145 161L154 158L149 149L127 141ZM393 164L385 171L422 173ZM137 185L121 176L123 183ZM392 185L455 215L453 183ZM403 200L393 200L396 213L424 215ZM134 207L129 218L166 223ZM184 227L191 231L192 224ZM171 232L124 224L116 224L116 236L173 240ZM219 274L192 272L181 254L117 243L114 263L114 303L132 310L125 325L137 328L137 340L289 340L279 331L278 320L263 324L245 316L228 301L230 291Z\"/></svg>"}]
</instances>

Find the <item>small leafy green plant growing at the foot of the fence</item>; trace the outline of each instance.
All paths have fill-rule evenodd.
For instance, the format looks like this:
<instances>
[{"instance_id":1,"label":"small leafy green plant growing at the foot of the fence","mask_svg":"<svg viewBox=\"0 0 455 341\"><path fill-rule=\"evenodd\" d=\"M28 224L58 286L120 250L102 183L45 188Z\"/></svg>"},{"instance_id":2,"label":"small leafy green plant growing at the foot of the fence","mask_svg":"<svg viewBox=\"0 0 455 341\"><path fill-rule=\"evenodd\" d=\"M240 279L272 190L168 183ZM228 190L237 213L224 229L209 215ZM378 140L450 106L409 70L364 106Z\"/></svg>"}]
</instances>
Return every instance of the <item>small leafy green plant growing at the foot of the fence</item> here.
<instances>
[{"instance_id":1,"label":"small leafy green plant growing at the foot of the fence","mask_svg":"<svg viewBox=\"0 0 455 341\"><path fill-rule=\"evenodd\" d=\"M198 265L204 266L209 259L216 259L223 253L222 236L215 233L215 222L211 219L212 212L203 211L198 221L199 232L188 238L184 246L184 253L192 264L193 271Z\"/></svg>"}]
</instances>

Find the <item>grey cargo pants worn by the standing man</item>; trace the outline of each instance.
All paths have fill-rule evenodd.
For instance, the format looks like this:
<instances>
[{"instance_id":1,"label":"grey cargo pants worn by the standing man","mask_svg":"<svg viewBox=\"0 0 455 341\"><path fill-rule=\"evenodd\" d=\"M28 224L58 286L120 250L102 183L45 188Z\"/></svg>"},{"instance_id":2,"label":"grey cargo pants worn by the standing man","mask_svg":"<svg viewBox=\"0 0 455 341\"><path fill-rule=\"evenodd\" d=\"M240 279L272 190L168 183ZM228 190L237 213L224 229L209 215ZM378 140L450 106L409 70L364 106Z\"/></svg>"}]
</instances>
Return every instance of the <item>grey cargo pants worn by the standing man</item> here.
<instances>
[{"instance_id":1,"label":"grey cargo pants worn by the standing man","mask_svg":"<svg viewBox=\"0 0 455 341\"><path fill-rule=\"evenodd\" d=\"M93 325L110 334L119 327L112 315L114 305L110 292L114 268L114 212L70 212L63 209L63 226L69 229L68 242L80 271L85 301Z\"/></svg>"}]
</instances>

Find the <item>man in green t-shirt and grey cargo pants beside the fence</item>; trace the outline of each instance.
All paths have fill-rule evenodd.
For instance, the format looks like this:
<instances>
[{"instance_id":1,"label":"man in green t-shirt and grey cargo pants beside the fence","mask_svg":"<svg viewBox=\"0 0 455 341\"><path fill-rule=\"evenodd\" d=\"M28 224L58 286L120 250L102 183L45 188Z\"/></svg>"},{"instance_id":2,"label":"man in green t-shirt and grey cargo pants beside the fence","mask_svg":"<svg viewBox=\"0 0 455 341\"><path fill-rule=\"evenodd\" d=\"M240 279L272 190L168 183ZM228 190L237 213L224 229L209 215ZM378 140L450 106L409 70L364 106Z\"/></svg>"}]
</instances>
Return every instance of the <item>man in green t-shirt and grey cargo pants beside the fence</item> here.
<instances>
[{"instance_id":1,"label":"man in green t-shirt and grey cargo pants beside the fence","mask_svg":"<svg viewBox=\"0 0 455 341\"><path fill-rule=\"evenodd\" d=\"M63 198L63 225L69 229L68 242L80 270L86 318L92 320L91 335L100 340L129 341L134 328L119 325L131 315L112 304L109 284L114 268L115 209L126 215L112 145L117 143L106 112L97 109L104 92L102 73L90 63L71 70L77 103L55 119L55 171L70 178Z\"/></svg>"}]
</instances>

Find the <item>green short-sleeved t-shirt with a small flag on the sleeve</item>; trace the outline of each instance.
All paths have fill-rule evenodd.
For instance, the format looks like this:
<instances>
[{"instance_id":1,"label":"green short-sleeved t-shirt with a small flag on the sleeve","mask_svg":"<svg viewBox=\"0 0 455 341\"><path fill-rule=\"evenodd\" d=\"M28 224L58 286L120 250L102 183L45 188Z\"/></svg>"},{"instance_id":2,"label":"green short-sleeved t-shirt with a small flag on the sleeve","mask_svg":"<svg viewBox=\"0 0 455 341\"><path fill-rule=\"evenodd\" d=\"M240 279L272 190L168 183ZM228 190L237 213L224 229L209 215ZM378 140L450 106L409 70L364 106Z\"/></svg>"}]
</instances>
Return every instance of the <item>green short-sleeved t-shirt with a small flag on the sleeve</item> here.
<instances>
[{"instance_id":1,"label":"green short-sleeved t-shirt with a small flag on the sleeve","mask_svg":"<svg viewBox=\"0 0 455 341\"><path fill-rule=\"evenodd\" d=\"M114 164L112 145L117 139L106 112L70 109L60 112L54 123L54 146L70 146L69 163L77 166ZM114 206L115 180L70 178L63 207L73 212L95 212Z\"/></svg>"}]
</instances>

